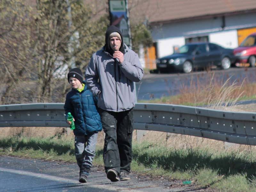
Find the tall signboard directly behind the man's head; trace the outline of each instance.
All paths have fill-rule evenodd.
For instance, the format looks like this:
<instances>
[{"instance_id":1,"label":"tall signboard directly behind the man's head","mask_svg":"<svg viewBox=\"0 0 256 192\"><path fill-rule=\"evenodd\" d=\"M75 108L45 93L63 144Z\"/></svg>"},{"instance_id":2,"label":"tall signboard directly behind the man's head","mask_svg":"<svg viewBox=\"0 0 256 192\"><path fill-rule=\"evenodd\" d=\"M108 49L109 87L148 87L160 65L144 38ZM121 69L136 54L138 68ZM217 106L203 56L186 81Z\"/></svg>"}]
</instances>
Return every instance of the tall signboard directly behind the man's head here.
<instances>
[{"instance_id":1,"label":"tall signboard directly behind the man's head","mask_svg":"<svg viewBox=\"0 0 256 192\"><path fill-rule=\"evenodd\" d=\"M110 25L115 25L123 34L123 41L130 46L130 30L125 0L109 0Z\"/></svg>"}]
</instances>

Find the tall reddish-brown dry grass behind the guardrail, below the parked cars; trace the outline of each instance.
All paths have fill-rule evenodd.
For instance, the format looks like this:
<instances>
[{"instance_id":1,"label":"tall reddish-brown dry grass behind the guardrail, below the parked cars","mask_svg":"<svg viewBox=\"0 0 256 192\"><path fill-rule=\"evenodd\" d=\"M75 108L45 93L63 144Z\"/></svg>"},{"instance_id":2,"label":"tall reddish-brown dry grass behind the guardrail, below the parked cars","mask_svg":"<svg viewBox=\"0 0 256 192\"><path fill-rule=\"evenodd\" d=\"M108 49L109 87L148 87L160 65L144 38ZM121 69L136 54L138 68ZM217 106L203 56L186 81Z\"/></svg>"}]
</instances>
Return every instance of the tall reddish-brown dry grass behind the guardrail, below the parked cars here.
<instances>
[{"instance_id":1,"label":"tall reddish-brown dry grass behind the guardrail, below the parked cars","mask_svg":"<svg viewBox=\"0 0 256 192\"><path fill-rule=\"evenodd\" d=\"M204 76L204 82L199 81L202 76ZM214 72L198 74L196 77L191 76L189 85L183 84L179 95L151 100L150 103L208 105L214 109L223 109L227 104L234 106L237 100L256 95L256 84L250 82L251 78L247 76L243 82L239 82L232 76L226 76L227 80L224 81L223 76L222 78L215 77ZM226 106L223 106L223 103L226 103Z\"/></svg>"}]
</instances>

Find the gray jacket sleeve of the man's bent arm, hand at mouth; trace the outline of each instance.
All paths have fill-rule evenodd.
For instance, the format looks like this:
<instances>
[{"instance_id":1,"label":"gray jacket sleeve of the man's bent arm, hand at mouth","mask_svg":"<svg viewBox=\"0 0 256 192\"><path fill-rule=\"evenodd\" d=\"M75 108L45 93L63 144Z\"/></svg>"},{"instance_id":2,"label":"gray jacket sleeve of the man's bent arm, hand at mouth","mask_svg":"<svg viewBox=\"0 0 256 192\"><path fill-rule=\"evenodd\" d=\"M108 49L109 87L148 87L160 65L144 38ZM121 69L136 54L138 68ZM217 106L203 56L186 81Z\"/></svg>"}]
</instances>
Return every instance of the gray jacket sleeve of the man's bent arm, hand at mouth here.
<instances>
[{"instance_id":1,"label":"gray jacket sleeve of the man's bent arm, hand at mouth","mask_svg":"<svg viewBox=\"0 0 256 192\"><path fill-rule=\"evenodd\" d=\"M143 77L143 68L140 64L140 59L137 53L133 53L133 60L131 62L124 59L120 64L120 68L124 75L134 82L139 82Z\"/></svg>"}]
</instances>

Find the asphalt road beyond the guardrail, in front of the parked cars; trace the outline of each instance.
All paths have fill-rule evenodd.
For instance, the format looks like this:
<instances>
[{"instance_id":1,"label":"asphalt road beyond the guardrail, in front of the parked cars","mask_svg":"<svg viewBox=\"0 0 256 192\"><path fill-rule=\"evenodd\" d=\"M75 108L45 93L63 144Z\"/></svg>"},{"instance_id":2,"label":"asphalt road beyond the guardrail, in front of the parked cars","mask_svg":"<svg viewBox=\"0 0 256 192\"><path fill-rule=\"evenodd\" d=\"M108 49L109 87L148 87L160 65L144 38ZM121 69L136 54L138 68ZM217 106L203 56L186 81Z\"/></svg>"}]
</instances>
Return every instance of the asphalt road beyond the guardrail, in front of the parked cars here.
<instances>
[{"instance_id":1,"label":"asphalt road beyond the guardrail, in front of the parked cars","mask_svg":"<svg viewBox=\"0 0 256 192\"><path fill-rule=\"evenodd\" d=\"M249 82L256 81L256 68L213 69L209 72L197 71L189 74L146 74L140 82L136 83L137 99L150 100L172 96L180 93L182 89L197 87L198 84L207 86L213 74L213 81L219 83L224 83L228 78L230 82L238 83L243 82L244 79Z\"/></svg>"}]
</instances>

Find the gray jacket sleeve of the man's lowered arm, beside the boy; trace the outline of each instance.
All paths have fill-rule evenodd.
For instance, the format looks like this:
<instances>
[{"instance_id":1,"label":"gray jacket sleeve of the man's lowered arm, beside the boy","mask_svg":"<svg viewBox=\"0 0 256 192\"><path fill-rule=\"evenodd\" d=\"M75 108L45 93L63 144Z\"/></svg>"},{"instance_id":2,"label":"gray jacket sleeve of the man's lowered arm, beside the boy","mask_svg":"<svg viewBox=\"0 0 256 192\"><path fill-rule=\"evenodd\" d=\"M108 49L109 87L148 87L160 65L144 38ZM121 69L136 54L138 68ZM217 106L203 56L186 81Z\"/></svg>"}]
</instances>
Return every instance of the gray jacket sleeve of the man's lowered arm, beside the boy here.
<instances>
[{"instance_id":1,"label":"gray jacket sleeve of the man's lowered arm, beside the boy","mask_svg":"<svg viewBox=\"0 0 256 192\"><path fill-rule=\"evenodd\" d=\"M90 63L85 71L85 81L93 95L97 95L99 92L101 92L101 86L98 80L99 75L97 72L97 66L95 59L92 56Z\"/></svg>"}]
</instances>

